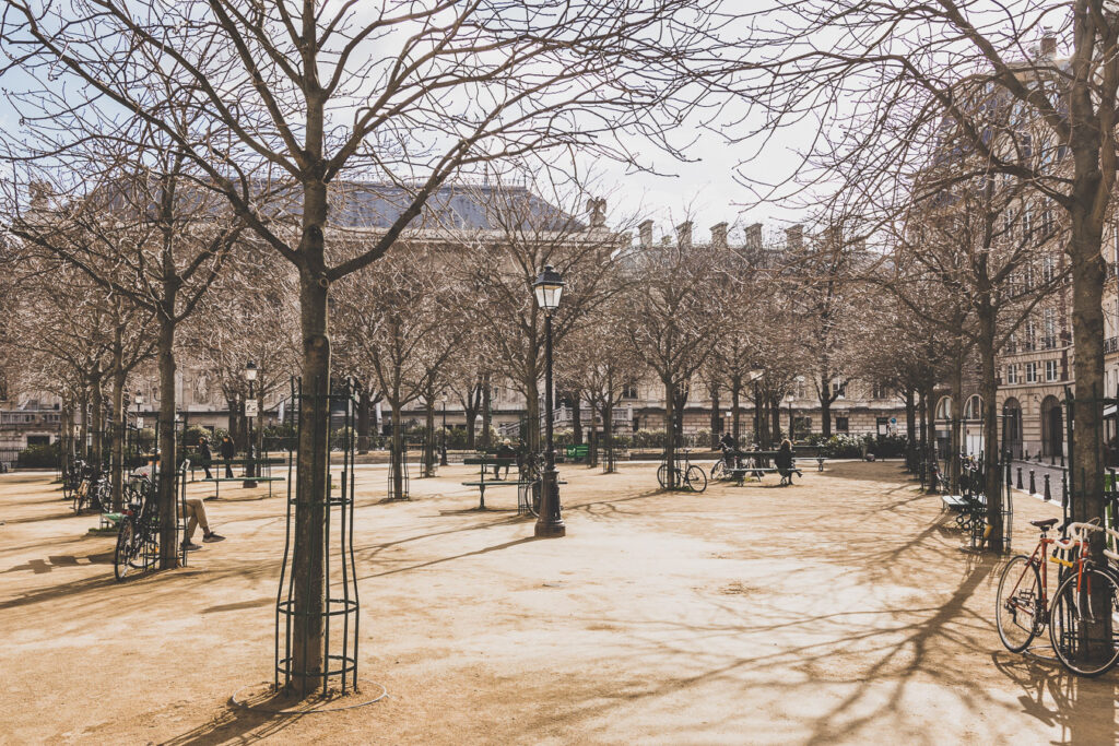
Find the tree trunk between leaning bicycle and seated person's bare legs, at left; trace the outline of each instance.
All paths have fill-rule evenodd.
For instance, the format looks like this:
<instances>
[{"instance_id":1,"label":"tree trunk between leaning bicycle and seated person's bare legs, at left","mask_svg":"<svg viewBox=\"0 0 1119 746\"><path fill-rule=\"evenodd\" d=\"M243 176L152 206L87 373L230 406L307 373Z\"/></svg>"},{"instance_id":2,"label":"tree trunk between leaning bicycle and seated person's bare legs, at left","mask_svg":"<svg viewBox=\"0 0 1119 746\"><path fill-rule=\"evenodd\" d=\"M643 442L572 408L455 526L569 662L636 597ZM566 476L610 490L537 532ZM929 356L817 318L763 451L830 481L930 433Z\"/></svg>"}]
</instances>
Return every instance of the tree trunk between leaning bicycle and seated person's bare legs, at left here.
<instances>
[{"instance_id":1,"label":"tree trunk between leaning bicycle and seated person's bare legs, at left","mask_svg":"<svg viewBox=\"0 0 1119 746\"><path fill-rule=\"evenodd\" d=\"M173 300L171 302L173 306ZM159 314L159 567L179 566L179 523L175 494L175 323Z\"/></svg>"}]
</instances>

